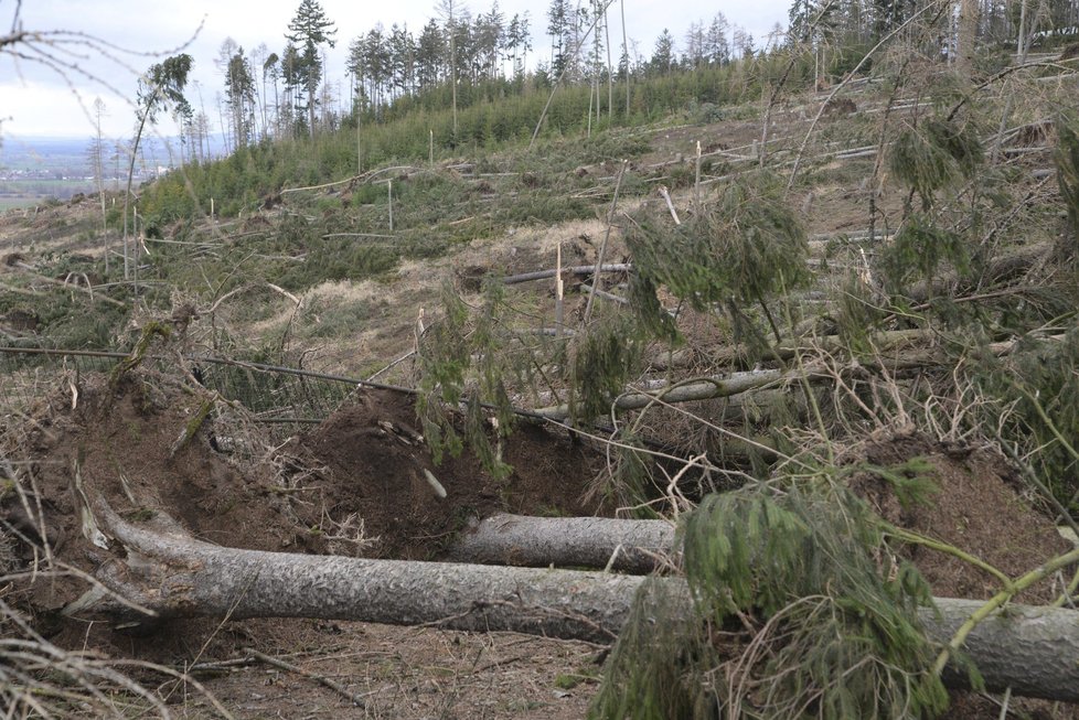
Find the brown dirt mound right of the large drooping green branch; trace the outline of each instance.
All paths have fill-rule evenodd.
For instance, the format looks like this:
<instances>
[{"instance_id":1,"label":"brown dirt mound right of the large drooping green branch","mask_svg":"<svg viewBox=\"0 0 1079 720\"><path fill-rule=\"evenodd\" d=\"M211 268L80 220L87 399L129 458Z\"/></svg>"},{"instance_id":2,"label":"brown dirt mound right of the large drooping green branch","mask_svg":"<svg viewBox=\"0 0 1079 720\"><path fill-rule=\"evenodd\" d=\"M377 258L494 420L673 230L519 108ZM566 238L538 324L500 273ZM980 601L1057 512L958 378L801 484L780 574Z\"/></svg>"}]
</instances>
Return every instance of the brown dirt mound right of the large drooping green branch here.
<instances>
[{"instance_id":1,"label":"brown dirt mound right of the large drooping green branch","mask_svg":"<svg viewBox=\"0 0 1079 720\"><path fill-rule=\"evenodd\" d=\"M863 452L870 465L896 466L921 458L932 468L928 477L937 491L925 503L904 506L891 484L872 473L853 483L882 517L899 527L964 550L1011 578L1072 548L1022 498L1019 480L994 451L947 448L906 436L870 443ZM918 545L908 546L906 554L938 597L989 599L1001 590L989 572L954 556ZM1045 582L1019 595L1018 602L1051 602L1059 592L1059 587Z\"/></svg>"}]
</instances>

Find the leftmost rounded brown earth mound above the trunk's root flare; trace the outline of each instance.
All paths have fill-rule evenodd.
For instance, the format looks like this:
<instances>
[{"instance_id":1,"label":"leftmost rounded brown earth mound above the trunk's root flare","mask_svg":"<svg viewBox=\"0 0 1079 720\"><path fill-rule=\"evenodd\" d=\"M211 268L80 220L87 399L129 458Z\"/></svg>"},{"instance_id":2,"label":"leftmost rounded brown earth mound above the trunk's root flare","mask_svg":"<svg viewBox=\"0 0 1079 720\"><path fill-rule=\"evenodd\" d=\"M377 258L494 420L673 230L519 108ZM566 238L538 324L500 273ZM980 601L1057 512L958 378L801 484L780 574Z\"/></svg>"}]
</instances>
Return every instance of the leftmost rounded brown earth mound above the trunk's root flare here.
<instances>
[{"instance_id":1,"label":"leftmost rounded brown earth mound above the trunk's root flare","mask_svg":"<svg viewBox=\"0 0 1079 720\"><path fill-rule=\"evenodd\" d=\"M275 502L273 465L212 449L213 417L197 420L210 400L204 389L151 370L118 384L72 376L28 422L6 429L6 455L32 463L28 474L61 559L81 565L83 552L94 554L78 526L76 480L117 512L164 513L210 542L265 550L292 544L297 531ZM253 441L229 425L233 442ZM0 502L9 519L20 512L13 494Z\"/></svg>"}]
</instances>

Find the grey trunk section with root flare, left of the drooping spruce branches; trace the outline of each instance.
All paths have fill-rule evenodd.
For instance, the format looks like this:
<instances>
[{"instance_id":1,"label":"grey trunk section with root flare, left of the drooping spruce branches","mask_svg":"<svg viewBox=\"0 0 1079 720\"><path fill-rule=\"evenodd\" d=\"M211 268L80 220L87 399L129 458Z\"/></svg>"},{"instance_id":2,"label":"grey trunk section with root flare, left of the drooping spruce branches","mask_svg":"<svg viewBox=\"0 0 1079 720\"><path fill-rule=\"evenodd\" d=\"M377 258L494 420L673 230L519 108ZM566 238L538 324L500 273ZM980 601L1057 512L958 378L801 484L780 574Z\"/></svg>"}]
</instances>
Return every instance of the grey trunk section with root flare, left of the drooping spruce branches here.
<instances>
[{"instance_id":1,"label":"grey trunk section with root flare, left of the drooping spruce branches","mask_svg":"<svg viewBox=\"0 0 1079 720\"><path fill-rule=\"evenodd\" d=\"M151 616L90 590L65 612L138 622L173 617L318 617L610 643L642 576L451 562L365 560L223 548L159 520L98 508L127 548L103 584ZM152 528L152 529L151 529ZM688 594L686 592L686 602Z\"/></svg>"}]
</instances>

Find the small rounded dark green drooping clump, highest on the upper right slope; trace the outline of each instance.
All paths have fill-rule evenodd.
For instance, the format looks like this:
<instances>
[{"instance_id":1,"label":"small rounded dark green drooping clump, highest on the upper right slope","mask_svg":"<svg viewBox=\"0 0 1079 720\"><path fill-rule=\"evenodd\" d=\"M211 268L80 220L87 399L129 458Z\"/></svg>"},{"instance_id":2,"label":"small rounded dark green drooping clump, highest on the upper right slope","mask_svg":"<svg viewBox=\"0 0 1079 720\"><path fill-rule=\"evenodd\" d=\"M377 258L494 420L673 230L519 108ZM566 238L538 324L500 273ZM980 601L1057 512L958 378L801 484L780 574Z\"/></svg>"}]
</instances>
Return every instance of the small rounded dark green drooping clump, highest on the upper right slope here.
<instances>
[{"instance_id":1,"label":"small rounded dark green drooping clump, highest on the upper right slope","mask_svg":"<svg viewBox=\"0 0 1079 720\"><path fill-rule=\"evenodd\" d=\"M937 191L973 175L983 159L982 143L972 123L933 118L899 133L888 154L888 166L928 208Z\"/></svg>"}]
</instances>

